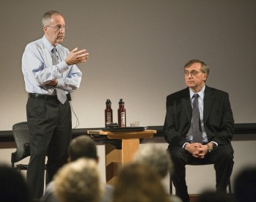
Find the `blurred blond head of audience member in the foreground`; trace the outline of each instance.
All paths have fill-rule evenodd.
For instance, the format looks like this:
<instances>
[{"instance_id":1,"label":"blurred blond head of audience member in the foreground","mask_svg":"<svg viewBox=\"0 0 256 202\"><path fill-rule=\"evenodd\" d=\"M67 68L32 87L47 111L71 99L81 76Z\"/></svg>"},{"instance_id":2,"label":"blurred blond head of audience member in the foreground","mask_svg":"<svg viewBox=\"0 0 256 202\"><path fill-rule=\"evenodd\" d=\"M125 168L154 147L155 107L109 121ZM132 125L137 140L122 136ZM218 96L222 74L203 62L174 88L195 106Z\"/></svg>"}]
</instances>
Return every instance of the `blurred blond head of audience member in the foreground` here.
<instances>
[{"instance_id":1,"label":"blurred blond head of audience member in the foreground","mask_svg":"<svg viewBox=\"0 0 256 202\"><path fill-rule=\"evenodd\" d=\"M80 158L67 163L54 176L54 184L61 202L100 201L102 187L95 160Z\"/></svg>"}]
</instances>

